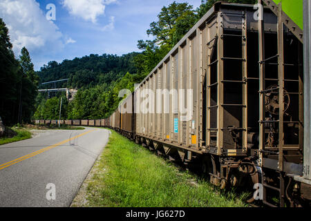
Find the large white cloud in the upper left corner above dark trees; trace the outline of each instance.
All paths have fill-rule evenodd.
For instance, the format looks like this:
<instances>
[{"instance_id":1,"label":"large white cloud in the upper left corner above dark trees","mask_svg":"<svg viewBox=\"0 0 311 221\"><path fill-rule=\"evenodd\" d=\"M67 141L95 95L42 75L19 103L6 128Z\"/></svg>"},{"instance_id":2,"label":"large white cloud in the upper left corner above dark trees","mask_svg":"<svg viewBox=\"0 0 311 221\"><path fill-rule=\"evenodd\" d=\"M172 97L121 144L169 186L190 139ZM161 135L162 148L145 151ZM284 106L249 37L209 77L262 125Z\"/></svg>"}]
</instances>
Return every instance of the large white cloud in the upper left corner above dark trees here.
<instances>
[{"instance_id":1,"label":"large white cloud in the upper left corner above dark trees","mask_svg":"<svg viewBox=\"0 0 311 221\"><path fill-rule=\"evenodd\" d=\"M23 46L31 52L57 52L64 48L62 32L46 19L35 0L1 0L0 15L8 26L16 55Z\"/></svg>"}]
</instances>

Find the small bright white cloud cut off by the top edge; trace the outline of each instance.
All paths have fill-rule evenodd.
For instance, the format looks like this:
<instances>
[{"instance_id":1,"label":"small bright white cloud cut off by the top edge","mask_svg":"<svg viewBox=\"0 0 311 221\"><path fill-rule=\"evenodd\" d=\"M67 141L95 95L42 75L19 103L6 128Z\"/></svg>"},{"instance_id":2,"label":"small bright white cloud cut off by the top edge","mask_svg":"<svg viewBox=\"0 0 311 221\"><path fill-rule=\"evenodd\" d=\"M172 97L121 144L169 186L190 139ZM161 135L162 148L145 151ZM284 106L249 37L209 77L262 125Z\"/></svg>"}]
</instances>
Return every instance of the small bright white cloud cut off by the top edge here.
<instances>
[{"instance_id":1,"label":"small bright white cloud cut off by the top edge","mask_svg":"<svg viewBox=\"0 0 311 221\"><path fill-rule=\"evenodd\" d=\"M106 6L115 2L117 0L64 0L62 3L70 15L96 23L97 17L104 15Z\"/></svg>"}]
</instances>

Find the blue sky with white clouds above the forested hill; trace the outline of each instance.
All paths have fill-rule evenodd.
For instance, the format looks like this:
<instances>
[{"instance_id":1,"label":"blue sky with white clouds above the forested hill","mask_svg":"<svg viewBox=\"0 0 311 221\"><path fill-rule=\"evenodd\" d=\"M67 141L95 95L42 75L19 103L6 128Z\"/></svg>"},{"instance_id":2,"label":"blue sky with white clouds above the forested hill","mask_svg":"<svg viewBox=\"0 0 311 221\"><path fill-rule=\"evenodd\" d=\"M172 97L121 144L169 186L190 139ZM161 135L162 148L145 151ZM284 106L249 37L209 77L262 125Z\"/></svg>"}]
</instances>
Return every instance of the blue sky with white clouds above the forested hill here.
<instances>
[{"instance_id":1,"label":"blue sky with white clouds above the forested hill","mask_svg":"<svg viewBox=\"0 0 311 221\"><path fill-rule=\"evenodd\" d=\"M194 8L200 0L185 0ZM84 55L122 55L139 51L137 41L168 0L1 0L0 17L6 22L15 55L26 46L35 69L48 61ZM48 21L46 6L56 7Z\"/></svg>"}]
</instances>

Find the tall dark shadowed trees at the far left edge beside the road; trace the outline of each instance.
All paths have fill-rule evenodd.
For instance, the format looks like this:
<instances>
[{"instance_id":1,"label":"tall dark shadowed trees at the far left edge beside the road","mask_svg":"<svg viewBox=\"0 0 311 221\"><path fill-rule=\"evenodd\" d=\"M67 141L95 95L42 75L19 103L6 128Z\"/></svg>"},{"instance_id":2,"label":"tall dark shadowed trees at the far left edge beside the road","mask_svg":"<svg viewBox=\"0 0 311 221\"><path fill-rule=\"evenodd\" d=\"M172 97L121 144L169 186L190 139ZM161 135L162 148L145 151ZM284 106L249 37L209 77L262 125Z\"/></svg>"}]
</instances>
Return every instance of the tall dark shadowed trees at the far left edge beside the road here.
<instances>
[{"instance_id":1,"label":"tall dark shadowed trees at the far left edge beside the road","mask_svg":"<svg viewBox=\"0 0 311 221\"><path fill-rule=\"evenodd\" d=\"M9 30L0 18L0 115L6 124L28 122L35 111L38 77L29 52L15 59Z\"/></svg>"}]
</instances>

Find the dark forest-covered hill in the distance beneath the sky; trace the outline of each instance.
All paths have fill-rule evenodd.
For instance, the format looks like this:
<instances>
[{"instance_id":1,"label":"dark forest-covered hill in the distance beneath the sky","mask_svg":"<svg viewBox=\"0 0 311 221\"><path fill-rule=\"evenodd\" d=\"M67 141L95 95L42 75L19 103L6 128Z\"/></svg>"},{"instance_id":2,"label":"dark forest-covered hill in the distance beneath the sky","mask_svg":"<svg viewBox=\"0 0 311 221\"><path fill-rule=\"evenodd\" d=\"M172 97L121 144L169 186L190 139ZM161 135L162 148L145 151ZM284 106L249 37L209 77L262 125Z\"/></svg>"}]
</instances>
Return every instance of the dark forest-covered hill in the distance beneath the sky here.
<instances>
[{"instance_id":1,"label":"dark forest-covered hill in the distance beneath the sky","mask_svg":"<svg viewBox=\"0 0 311 221\"><path fill-rule=\"evenodd\" d=\"M136 73L133 58L138 52L126 55L89 55L73 60L64 60L58 64L50 61L37 72L40 81L48 82L59 79L69 79L57 83L58 87L65 88L89 88L97 84L110 84L112 81L123 77L127 72ZM40 86L48 88L50 85Z\"/></svg>"}]
</instances>

